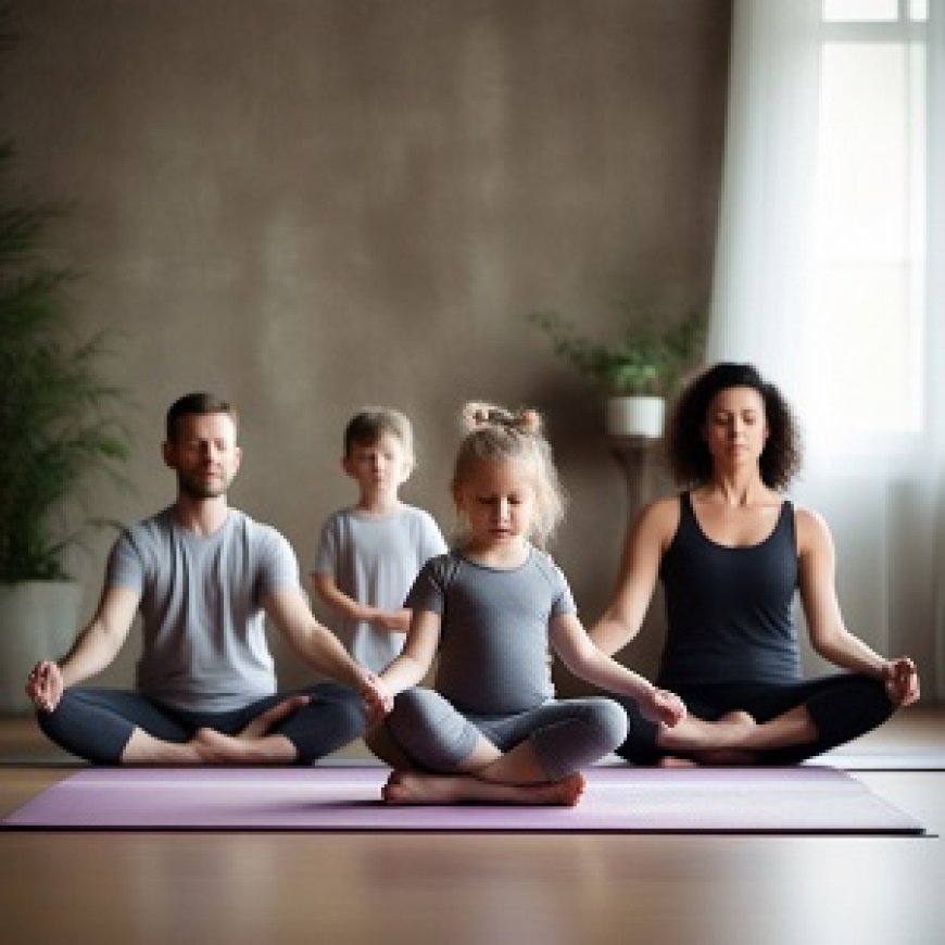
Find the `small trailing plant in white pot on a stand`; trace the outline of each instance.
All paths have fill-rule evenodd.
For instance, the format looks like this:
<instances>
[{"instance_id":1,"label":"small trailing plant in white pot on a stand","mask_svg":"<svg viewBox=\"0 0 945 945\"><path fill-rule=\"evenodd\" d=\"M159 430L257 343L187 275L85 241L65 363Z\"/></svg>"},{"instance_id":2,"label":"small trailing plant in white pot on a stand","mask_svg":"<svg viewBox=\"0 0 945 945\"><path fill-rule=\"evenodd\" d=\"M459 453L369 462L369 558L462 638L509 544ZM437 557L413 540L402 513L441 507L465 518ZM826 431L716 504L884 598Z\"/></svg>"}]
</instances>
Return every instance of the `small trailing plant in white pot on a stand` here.
<instances>
[{"instance_id":1,"label":"small trailing plant in white pot on a stand","mask_svg":"<svg viewBox=\"0 0 945 945\"><path fill-rule=\"evenodd\" d=\"M603 390L610 436L660 437L666 399L703 355L705 317L693 310L662 326L652 316L632 317L629 306L626 316L613 344L588 338L558 312L533 312L529 319L555 354Z\"/></svg>"}]
</instances>

